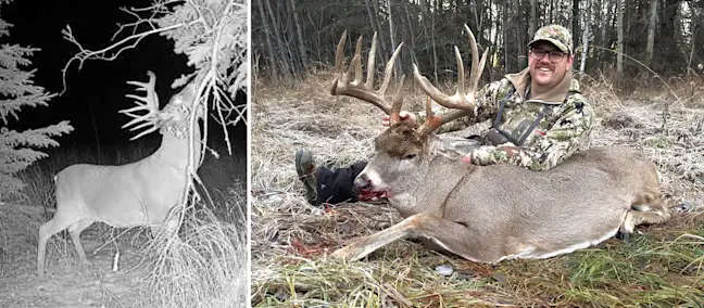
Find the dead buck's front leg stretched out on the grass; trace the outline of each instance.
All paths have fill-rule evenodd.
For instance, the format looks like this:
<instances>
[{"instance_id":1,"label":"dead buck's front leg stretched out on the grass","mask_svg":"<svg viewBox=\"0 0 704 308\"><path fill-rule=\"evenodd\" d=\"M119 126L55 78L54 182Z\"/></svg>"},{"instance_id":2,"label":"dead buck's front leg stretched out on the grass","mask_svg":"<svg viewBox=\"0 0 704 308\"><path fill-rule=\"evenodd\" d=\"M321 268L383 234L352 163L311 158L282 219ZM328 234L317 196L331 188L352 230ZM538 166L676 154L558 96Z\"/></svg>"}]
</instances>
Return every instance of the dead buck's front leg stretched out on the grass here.
<instances>
[{"instance_id":1,"label":"dead buck's front leg stretched out on the grass","mask_svg":"<svg viewBox=\"0 0 704 308\"><path fill-rule=\"evenodd\" d=\"M453 254L477 260L467 241L475 239L465 226L428 213L419 213L376 234L363 238L332 253L332 257L359 260L374 251L402 239L427 238ZM461 240L460 240L461 239ZM490 252L487 252L490 253Z\"/></svg>"}]
</instances>

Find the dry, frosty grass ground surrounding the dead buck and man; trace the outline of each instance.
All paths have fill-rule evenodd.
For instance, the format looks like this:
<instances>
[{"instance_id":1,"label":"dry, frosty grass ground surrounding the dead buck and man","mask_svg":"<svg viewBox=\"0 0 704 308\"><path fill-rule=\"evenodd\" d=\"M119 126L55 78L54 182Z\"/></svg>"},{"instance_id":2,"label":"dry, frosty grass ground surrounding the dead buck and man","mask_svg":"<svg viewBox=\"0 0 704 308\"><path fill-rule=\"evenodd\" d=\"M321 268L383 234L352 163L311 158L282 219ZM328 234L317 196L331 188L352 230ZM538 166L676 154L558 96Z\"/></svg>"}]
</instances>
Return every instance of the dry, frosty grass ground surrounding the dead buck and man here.
<instances>
[{"instance_id":1,"label":"dry, frosty grass ground surrounding the dead buck and man","mask_svg":"<svg viewBox=\"0 0 704 308\"><path fill-rule=\"evenodd\" d=\"M662 172L675 210L671 221L639 228L643 234L628 243L609 240L566 256L492 268L412 241L382 247L362 261L326 256L400 219L385 205L316 208L305 202L293 166L297 147L311 149L318 163L345 166L368 158L372 139L382 131L376 107L327 93L329 77L320 74L289 88L256 85L251 108L254 307L704 305L704 112L697 108L704 98L686 95L689 88L670 86L676 101L653 87L650 94L624 95L604 78L582 81L600 116L593 144L629 144L648 153ZM417 110L422 99L406 94L406 108ZM452 273L442 274L441 266Z\"/></svg>"}]
</instances>

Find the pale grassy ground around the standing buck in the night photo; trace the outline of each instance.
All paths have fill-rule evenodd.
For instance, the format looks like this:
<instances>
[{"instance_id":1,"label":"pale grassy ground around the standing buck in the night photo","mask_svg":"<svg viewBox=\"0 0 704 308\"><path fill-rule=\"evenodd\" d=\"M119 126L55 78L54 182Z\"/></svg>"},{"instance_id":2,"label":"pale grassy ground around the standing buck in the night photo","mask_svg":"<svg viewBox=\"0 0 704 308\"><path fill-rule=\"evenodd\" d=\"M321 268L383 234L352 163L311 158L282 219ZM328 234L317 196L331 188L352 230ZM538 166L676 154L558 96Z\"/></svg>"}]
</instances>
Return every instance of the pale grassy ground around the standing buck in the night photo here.
<instances>
[{"instance_id":1,"label":"pale grassy ground around the standing buck in the night photo","mask_svg":"<svg viewBox=\"0 0 704 308\"><path fill-rule=\"evenodd\" d=\"M53 175L75 163L142 158L158 146L158 137L150 138L156 142L103 145L101 155L95 147L66 144L21 175L28 198L0 205L0 307L240 307L246 301L247 152L237 149L232 156L217 149L219 159L209 155L199 169L212 210L190 210L177 241L152 240L143 228L95 223L81 234L91 261L84 266L63 231L47 246L46 278L37 277L37 230L53 216Z\"/></svg>"}]
</instances>

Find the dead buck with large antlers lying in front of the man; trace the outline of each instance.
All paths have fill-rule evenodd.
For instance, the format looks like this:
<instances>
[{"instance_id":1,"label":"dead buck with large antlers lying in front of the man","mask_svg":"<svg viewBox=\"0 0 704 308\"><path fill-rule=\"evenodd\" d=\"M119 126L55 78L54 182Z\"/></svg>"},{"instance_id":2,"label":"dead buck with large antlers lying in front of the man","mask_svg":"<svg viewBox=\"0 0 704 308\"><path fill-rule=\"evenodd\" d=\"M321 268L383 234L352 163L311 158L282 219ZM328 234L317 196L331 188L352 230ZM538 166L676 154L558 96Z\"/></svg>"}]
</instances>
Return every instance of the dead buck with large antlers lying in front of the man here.
<instances>
[{"instance_id":1,"label":"dead buck with large antlers lying in front of the man","mask_svg":"<svg viewBox=\"0 0 704 308\"><path fill-rule=\"evenodd\" d=\"M417 238L432 248L473 261L549 258L595 245L619 231L630 234L637 224L669 219L656 167L626 147L584 150L545 171L510 164L475 166L440 154L447 140L433 131L472 113L487 59L485 52L479 63L474 35L466 25L465 30L473 55L466 91L456 48L458 84L452 97L436 89L413 67L424 92L455 110L436 116L428 99L428 118L423 125L400 120L401 90L393 104L385 94L399 50L387 63L380 89L373 90L376 36L369 52L369 73L363 82L362 40L357 41L350 68L343 73L342 35L336 53L339 75L331 94L369 102L384 110L391 121L374 140L374 157L355 179L355 189L387 196L405 219L337 249L332 256L357 260L393 241Z\"/></svg>"}]
</instances>

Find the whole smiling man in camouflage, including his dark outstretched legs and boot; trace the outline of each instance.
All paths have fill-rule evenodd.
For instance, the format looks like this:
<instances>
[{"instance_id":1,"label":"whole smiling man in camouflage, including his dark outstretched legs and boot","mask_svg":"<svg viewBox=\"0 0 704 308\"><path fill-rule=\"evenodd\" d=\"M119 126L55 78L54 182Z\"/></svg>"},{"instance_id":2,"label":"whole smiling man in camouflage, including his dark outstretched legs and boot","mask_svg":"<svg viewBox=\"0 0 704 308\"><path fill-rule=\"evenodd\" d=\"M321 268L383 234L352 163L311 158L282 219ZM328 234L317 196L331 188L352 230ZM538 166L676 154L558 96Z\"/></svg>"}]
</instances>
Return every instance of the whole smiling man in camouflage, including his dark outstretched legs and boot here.
<instances>
[{"instance_id":1,"label":"whole smiling man in camouflage, including his dark outstretched legs and boot","mask_svg":"<svg viewBox=\"0 0 704 308\"><path fill-rule=\"evenodd\" d=\"M493 119L491 129L473 136L470 152L463 162L475 165L513 164L531 170L554 167L579 150L589 146L594 112L573 79L575 60L571 35L558 25L536 31L528 43L528 67L486 85L477 92L475 112L442 126L438 133L464 129L476 123ZM443 107L436 114L448 112ZM402 113L404 120L420 120ZM384 120L388 125L388 117ZM476 147L476 141L480 146ZM458 149L466 145L453 142ZM466 142L465 142L466 143ZM457 149L453 149L457 152ZM306 187L311 204L357 200L352 185L366 162L348 168L315 168L313 155L306 150L296 153L296 167ZM364 196L362 196L364 197Z\"/></svg>"}]
</instances>

